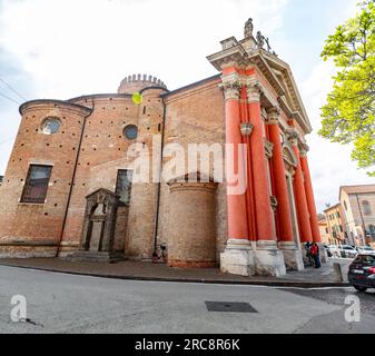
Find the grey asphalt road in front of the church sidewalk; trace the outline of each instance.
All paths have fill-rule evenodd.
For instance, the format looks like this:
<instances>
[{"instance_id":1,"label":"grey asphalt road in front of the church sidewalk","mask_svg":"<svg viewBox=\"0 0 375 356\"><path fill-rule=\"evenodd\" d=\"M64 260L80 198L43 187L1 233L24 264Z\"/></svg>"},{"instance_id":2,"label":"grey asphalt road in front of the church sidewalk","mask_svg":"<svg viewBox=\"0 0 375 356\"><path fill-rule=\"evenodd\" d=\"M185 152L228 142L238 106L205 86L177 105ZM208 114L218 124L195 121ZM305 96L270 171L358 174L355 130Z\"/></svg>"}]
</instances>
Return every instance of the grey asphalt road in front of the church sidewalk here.
<instances>
[{"instance_id":1,"label":"grey asphalt road in front of the church sidewalk","mask_svg":"<svg viewBox=\"0 0 375 356\"><path fill-rule=\"evenodd\" d=\"M361 323L345 322L342 289L149 283L0 266L0 333L373 333L375 294ZM30 323L10 318L23 295ZM208 312L206 301L248 303L257 313Z\"/></svg>"}]
</instances>

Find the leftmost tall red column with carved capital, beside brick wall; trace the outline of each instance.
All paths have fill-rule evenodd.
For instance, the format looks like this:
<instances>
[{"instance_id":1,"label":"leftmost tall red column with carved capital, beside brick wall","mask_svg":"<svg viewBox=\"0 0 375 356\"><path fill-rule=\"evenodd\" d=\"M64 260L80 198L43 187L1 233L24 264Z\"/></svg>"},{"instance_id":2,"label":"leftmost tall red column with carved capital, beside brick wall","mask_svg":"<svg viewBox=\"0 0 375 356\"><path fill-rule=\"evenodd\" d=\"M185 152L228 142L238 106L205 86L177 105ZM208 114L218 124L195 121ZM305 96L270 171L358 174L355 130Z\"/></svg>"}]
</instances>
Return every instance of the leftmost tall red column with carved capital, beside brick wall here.
<instances>
[{"instance_id":1,"label":"leftmost tall red column with carved capital, beside brick wall","mask_svg":"<svg viewBox=\"0 0 375 356\"><path fill-rule=\"evenodd\" d=\"M234 170L239 179L246 177L246 167L244 160L238 161L239 147L241 147L241 132L240 132L240 109L239 96L240 86L237 82L226 83L224 86L225 95L225 120L226 120L226 144L233 145L234 157L230 150L227 150L227 169L229 168L228 161L234 159ZM245 152L246 154L246 152ZM247 208L246 208L246 191L243 194L230 194L234 182L227 182L227 207L228 207L228 235L229 239L249 239L247 226Z\"/></svg>"}]
</instances>

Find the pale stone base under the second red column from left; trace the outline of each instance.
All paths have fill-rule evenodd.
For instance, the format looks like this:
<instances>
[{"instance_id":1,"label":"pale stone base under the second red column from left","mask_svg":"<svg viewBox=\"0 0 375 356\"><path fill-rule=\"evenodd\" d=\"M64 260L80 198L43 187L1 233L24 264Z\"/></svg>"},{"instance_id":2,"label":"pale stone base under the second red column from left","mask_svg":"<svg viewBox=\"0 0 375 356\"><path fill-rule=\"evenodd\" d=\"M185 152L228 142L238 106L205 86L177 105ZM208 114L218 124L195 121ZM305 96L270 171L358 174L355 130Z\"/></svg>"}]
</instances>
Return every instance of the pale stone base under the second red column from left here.
<instances>
[{"instance_id":1,"label":"pale stone base under the second red column from left","mask_svg":"<svg viewBox=\"0 0 375 356\"><path fill-rule=\"evenodd\" d=\"M260 240L256 243L255 269L259 276L282 277L286 275L283 253L276 241Z\"/></svg>"}]
</instances>

